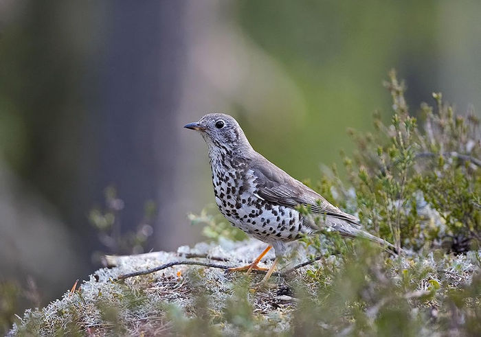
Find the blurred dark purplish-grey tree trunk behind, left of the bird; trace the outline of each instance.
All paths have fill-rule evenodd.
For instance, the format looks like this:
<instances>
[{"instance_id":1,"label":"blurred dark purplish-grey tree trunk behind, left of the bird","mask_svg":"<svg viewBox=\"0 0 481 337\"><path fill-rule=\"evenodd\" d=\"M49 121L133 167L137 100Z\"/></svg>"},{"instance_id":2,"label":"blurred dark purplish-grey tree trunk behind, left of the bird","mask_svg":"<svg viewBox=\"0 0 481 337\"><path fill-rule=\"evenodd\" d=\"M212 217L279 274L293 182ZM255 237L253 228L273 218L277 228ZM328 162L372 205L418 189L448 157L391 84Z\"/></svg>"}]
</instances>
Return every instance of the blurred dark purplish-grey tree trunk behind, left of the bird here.
<instances>
[{"instance_id":1,"label":"blurred dark purplish-grey tree trunk behind, left of the bird","mask_svg":"<svg viewBox=\"0 0 481 337\"><path fill-rule=\"evenodd\" d=\"M168 248L177 208L175 114L180 95L183 1L110 1L100 66L96 187L115 185L125 202L122 232L135 230L146 200L159 220L154 249ZM170 247L171 248L171 247Z\"/></svg>"}]
</instances>

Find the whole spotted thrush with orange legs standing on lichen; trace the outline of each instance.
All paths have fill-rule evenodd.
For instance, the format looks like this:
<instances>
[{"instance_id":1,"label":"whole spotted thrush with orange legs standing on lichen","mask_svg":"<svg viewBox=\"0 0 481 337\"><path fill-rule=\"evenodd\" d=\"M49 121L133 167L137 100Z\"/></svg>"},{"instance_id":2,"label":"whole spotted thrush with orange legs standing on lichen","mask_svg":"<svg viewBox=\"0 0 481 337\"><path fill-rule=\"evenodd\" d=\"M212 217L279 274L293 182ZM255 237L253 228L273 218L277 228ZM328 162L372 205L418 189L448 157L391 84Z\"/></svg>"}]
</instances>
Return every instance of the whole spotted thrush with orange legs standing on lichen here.
<instances>
[{"instance_id":1,"label":"whole spotted thrush with orange legs standing on lichen","mask_svg":"<svg viewBox=\"0 0 481 337\"><path fill-rule=\"evenodd\" d=\"M208 113L184 128L200 132L208 145L219 211L232 225L268 244L251 264L230 271L266 270L260 282L265 284L284 255L287 242L322 229L344 237L364 237L396 251L390 242L363 231L357 217L335 207L256 152L234 117ZM271 267L258 266L271 248L276 256Z\"/></svg>"}]
</instances>

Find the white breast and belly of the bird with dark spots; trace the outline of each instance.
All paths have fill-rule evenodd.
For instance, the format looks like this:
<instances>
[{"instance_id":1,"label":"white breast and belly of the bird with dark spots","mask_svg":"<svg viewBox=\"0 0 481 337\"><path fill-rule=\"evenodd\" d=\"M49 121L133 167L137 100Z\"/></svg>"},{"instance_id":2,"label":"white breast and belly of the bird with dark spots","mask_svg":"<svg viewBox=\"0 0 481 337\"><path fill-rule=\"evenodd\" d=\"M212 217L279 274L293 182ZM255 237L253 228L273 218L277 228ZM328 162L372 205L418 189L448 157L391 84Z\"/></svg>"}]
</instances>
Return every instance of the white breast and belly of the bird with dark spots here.
<instances>
[{"instance_id":1,"label":"white breast and belly of the bird with dark spots","mask_svg":"<svg viewBox=\"0 0 481 337\"><path fill-rule=\"evenodd\" d=\"M264 242L296 240L312 231L298 211L272 205L258 195L254 172L212 164L216 204L234 226Z\"/></svg>"}]
</instances>

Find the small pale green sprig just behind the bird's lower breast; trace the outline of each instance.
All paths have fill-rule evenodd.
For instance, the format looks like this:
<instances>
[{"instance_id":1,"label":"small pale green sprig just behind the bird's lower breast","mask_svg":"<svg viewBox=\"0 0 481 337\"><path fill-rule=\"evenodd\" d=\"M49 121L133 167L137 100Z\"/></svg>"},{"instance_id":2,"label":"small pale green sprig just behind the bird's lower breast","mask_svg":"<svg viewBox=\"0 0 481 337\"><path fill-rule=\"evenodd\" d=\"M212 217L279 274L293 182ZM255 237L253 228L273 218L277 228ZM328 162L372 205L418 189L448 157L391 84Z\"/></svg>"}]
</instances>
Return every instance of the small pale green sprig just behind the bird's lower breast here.
<instances>
[{"instance_id":1,"label":"small pale green sprig just behind the bird's lower breast","mask_svg":"<svg viewBox=\"0 0 481 337\"><path fill-rule=\"evenodd\" d=\"M214 205L205 207L200 214L190 213L188 218L190 219L192 225L203 224L204 227L202 233L209 239L216 241L218 241L221 237L225 237L226 239L233 241L242 241L247 239L247 235L225 220L222 214L216 210L216 207L214 209Z\"/></svg>"}]
</instances>

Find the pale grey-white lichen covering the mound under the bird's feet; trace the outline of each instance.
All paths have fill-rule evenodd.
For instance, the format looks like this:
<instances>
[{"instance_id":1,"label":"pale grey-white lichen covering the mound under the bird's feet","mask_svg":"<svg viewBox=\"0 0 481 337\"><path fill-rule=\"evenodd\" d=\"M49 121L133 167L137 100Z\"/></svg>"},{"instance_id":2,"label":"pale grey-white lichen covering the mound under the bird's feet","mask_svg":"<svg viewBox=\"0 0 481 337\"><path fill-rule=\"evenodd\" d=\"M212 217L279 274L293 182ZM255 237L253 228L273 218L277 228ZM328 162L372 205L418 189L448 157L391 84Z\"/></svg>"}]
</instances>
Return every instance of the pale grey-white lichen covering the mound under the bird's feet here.
<instances>
[{"instance_id":1,"label":"pale grey-white lichen covering the mound under the bird's feet","mask_svg":"<svg viewBox=\"0 0 481 337\"><path fill-rule=\"evenodd\" d=\"M75 327L79 332L102 333L111 331L114 325L123 325L122 331L128 334L141 330L152 333L158 333L162 329L168 331L172 327L166 318L166 313L172 311L168 304L177 305L189 312L189 307L194 305L194 297L198 295L197 291L192 291L192 283L201 282L205 293L212 294L216 299L210 301L210 310L221 311L232 295L232 280L239 275L226 274L225 270L221 269L182 265L172 266L151 275L115 281L119 275L172 261L189 259L205 262L210 261L211 257L214 257L216 264L241 266L251 262L263 248L265 244L254 240L221 240L221 244L200 243L194 248L182 246L177 253L155 252L108 257L109 263L115 264L115 267L97 270L89 280L81 284L78 292L66 292L62 299L40 310L27 310L20 322L14 325L10 335L52 336L59 332L71 333L76 330ZM187 258L186 255L206 257ZM269 264L269 261L273 260L273 253L269 252L265 259ZM276 291L259 292L253 297L256 310L271 319L280 319L282 310L279 309L289 307L284 304L289 303L290 297L278 296ZM109 314L112 317L109 317ZM74 323L75 327L69 326L69 323ZM282 327L282 324L279 327Z\"/></svg>"}]
</instances>

